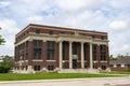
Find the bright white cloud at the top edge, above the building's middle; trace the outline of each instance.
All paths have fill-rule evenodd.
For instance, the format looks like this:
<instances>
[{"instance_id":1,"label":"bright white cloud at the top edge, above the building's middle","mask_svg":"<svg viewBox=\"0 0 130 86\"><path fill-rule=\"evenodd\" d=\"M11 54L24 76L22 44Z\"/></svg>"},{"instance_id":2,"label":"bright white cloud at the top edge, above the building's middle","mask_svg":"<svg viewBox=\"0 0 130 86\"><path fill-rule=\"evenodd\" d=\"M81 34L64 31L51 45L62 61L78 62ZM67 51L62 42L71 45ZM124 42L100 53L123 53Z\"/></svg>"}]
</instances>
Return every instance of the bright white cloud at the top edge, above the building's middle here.
<instances>
[{"instance_id":1,"label":"bright white cloud at the top edge, above the building's middle","mask_svg":"<svg viewBox=\"0 0 130 86\"><path fill-rule=\"evenodd\" d=\"M105 0L56 0L56 5L66 11L78 11L81 9L95 9L104 5Z\"/></svg>"}]
</instances>

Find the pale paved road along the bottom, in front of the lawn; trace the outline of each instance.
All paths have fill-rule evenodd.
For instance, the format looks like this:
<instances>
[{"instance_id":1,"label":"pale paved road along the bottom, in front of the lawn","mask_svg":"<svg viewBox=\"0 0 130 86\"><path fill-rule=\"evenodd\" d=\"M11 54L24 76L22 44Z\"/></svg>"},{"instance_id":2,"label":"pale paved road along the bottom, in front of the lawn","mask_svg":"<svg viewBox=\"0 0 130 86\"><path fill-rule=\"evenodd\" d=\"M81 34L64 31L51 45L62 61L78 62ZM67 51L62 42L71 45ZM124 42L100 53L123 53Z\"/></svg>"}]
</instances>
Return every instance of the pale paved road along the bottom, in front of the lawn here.
<instances>
[{"instance_id":1,"label":"pale paved road along the bottom, in front of the lawn","mask_svg":"<svg viewBox=\"0 0 130 86\"><path fill-rule=\"evenodd\" d=\"M0 86L130 86L127 77L95 77L0 82Z\"/></svg>"}]
</instances>

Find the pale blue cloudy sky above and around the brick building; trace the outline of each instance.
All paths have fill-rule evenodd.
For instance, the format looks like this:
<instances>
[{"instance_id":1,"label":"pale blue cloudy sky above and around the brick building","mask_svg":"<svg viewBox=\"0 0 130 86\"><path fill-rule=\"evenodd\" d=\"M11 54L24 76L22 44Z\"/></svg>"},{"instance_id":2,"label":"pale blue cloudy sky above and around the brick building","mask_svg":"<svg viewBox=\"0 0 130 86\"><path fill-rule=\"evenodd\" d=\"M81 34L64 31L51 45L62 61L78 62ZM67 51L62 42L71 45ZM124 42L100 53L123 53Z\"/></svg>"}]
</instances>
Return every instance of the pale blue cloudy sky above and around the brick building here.
<instances>
[{"instance_id":1,"label":"pale blue cloudy sky above and around the brick building","mask_svg":"<svg viewBox=\"0 0 130 86\"><path fill-rule=\"evenodd\" d=\"M130 0L0 0L0 56L14 56L15 34L28 24L108 32L109 54L130 54Z\"/></svg>"}]
</instances>

